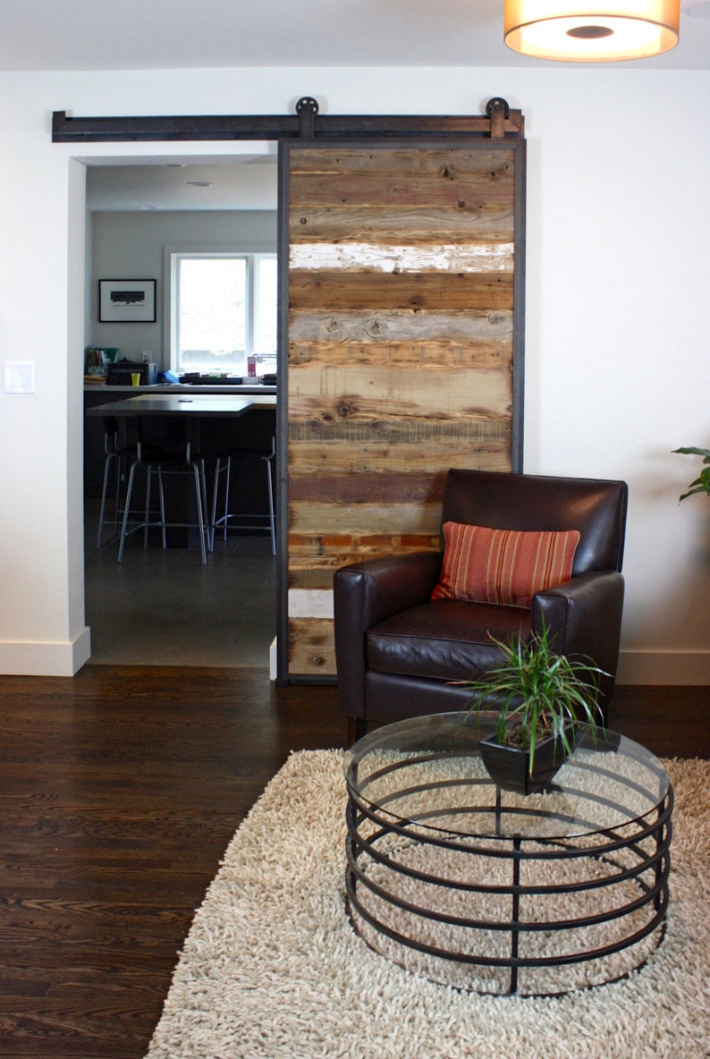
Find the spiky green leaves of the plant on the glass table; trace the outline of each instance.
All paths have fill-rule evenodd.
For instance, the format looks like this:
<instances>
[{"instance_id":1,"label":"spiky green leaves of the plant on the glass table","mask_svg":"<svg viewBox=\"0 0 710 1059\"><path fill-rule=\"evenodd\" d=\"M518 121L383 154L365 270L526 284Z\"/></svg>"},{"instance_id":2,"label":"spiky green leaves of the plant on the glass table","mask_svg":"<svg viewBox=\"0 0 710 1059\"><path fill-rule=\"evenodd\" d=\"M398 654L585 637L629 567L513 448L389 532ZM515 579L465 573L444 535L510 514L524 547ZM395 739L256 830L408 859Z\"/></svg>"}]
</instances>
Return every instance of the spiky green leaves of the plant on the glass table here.
<instances>
[{"instance_id":1,"label":"spiky green leaves of the plant on the glass table","mask_svg":"<svg viewBox=\"0 0 710 1059\"><path fill-rule=\"evenodd\" d=\"M503 660L480 677L460 681L471 692L463 710L479 714L497 710L496 739L504 747L528 750L532 774L535 746L556 737L564 756L574 750L582 724L594 732L604 726L595 676L608 676L590 659L569 659L554 651L554 638L543 622L542 631L527 643L513 636L510 644L491 636Z\"/></svg>"}]
</instances>

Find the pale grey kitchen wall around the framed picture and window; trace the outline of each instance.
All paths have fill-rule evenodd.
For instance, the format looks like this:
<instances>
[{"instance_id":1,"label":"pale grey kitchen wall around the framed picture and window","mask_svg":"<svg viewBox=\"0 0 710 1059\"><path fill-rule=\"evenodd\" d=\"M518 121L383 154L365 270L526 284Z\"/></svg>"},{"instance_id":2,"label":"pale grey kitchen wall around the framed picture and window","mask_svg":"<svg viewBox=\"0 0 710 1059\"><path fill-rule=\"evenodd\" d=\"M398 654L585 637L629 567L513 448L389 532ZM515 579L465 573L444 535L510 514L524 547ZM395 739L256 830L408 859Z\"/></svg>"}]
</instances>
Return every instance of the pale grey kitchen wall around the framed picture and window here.
<instances>
[{"instance_id":1,"label":"pale grey kitchen wall around the framed picture and window","mask_svg":"<svg viewBox=\"0 0 710 1059\"><path fill-rule=\"evenodd\" d=\"M141 360L149 349L158 371L169 367L169 336L165 327L168 276L165 248L204 250L222 247L275 251L277 214L266 210L165 210L160 213L91 214L92 266L87 300L92 306L86 345L117 346L123 357ZM98 280L157 280L157 320L153 324L98 323Z\"/></svg>"}]
</instances>

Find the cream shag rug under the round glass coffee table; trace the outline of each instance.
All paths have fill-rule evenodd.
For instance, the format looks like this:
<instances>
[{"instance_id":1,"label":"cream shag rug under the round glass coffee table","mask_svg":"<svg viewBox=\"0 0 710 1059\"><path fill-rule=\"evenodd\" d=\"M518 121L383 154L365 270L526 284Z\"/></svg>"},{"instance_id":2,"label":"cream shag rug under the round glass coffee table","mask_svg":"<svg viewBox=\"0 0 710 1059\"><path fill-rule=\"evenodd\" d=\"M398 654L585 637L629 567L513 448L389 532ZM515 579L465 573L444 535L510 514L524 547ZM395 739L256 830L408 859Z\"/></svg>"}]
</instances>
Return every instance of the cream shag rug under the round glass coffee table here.
<instances>
[{"instance_id":1,"label":"cream shag rug under the round glass coffee table","mask_svg":"<svg viewBox=\"0 0 710 1059\"><path fill-rule=\"evenodd\" d=\"M147 1059L710 1056L710 761L675 788L666 937L620 982L478 995L372 951L345 903L341 751L291 755L198 910Z\"/></svg>"}]
</instances>

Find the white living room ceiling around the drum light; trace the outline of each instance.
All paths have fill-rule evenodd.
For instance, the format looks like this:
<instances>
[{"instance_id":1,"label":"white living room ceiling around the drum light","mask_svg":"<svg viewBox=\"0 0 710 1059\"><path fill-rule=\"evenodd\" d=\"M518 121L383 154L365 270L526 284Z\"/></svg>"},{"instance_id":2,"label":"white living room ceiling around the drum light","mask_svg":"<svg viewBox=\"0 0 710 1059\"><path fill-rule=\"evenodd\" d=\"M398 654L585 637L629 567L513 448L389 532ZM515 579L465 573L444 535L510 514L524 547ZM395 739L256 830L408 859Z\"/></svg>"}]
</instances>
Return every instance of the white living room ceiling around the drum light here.
<instances>
[{"instance_id":1,"label":"white living room ceiling around the drum light","mask_svg":"<svg viewBox=\"0 0 710 1059\"><path fill-rule=\"evenodd\" d=\"M682 6L679 44L643 66L710 69L710 2ZM0 0L0 70L532 65L503 0Z\"/></svg>"}]
</instances>

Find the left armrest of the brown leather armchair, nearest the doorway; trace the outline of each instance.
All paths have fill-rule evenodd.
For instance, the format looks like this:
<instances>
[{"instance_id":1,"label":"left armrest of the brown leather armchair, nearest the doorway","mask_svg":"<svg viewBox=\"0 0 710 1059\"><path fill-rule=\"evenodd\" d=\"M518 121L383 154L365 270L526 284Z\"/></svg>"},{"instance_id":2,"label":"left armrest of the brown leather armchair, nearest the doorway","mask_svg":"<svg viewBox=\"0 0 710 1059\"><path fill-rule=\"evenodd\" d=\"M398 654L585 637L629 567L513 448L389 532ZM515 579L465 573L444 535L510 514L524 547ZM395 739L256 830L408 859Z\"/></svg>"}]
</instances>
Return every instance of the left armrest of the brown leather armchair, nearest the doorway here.
<instances>
[{"instance_id":1,"label":"left armrest of the brown leather armchair, nearest the doorway","mask_svg":"<svg viewBox=\"0 0 710 1059\"><path fill-rule=\"evenodd\" d=\"M335 571L335 665L347 717L365 716L365 633L389 614L425 603L438 580L441 558L440 552L409 552Z\"/></svg>"}]
</instances>

